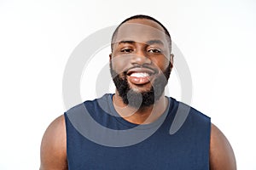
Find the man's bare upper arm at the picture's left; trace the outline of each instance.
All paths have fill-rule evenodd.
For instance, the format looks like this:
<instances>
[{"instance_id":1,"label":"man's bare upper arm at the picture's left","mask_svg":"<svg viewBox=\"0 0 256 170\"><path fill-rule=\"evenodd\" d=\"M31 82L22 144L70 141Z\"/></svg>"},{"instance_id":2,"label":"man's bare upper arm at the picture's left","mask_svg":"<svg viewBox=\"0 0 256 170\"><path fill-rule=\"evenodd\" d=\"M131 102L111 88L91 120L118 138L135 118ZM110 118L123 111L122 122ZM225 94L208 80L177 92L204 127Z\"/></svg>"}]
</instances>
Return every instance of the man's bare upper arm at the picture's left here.
<instances>
[{"instance_id":1,"label":"man's bare upper arm at the picture's left","mask_svg":"<svg viewBox=\"0 0 256 170\"><path fill-rule=\"evenodd\" d=\"M64 116L51 122L41 143L40 170L67 169L66 126Z\"/></svg>"}]
</instances>

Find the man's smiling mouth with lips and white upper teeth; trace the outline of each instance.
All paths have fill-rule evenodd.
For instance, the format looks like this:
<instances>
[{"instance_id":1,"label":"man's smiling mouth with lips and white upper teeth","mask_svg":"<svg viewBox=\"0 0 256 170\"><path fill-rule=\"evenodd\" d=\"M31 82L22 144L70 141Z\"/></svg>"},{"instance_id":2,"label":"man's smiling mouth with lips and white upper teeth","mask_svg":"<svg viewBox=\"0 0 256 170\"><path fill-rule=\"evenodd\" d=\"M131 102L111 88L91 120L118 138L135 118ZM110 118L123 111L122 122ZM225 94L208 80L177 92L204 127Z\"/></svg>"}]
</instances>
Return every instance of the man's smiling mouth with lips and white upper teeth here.
<instances>
[{"instance_id":1,"label":"man's smiling mouth with lips and white upper teeth","mask_svg":"<svg viewBox=\"0 0 256 170\"><path fill-rule=\"evenodd\" d=\"M155 73L156 71L148 68L133 68L127 71L129 81L137 85L143 85L150 82L151 77Z\"/></svg>"}]
</instances>

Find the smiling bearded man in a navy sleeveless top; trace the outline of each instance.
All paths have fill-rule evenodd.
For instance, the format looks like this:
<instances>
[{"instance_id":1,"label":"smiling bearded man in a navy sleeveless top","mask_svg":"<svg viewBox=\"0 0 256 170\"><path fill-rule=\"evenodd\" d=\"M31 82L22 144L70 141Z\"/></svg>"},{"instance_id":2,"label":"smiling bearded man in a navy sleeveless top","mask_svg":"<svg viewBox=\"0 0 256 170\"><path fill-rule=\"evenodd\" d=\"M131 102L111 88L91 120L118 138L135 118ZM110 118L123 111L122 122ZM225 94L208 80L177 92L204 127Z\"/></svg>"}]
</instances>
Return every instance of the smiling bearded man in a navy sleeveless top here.
<instances>
[{"instance_id":1,"label":"smiling bearded man in a navy sleeveless top","mask_svg":"<svg viewBox=\"0 0 256 170\"><path fill-rule=\"evenodd\" d=\"M165 26L132 16L114 31L111 48L116 93L56 118L44 133L40 169L236 169L228 139L210 118L164 94L173 67Z\"/></svg>"}]
</instances>

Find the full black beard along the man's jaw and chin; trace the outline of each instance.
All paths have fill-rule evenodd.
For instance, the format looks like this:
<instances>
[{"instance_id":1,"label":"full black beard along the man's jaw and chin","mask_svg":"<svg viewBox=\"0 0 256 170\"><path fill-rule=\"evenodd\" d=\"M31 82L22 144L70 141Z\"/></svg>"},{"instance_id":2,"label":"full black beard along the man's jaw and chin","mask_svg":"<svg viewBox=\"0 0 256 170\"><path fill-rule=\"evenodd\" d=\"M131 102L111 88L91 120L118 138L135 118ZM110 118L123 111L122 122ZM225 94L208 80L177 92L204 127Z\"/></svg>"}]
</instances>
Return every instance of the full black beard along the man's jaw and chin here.
<instances>
[{"instance_id":1,"label":"full black beard along the man's jaw and chin","mask_svg":"<svg viewBox=\"0 0 256 170\"><path fill-rule=\"evenodd\" d=\"M160 99L160 96L164 93L166 84L171 74L171 63L167 66L166 70L163 71L158 77L155 78L152 83L152 87L145 92L136 92L130 88L127 82L127 72L118 74L116 71L113 71L112 63L110 62L110 72L113 78L113 82L119 96L123 99L125 105L130 105L134 108L143 109Z\"/></svg>"}]
</instances>

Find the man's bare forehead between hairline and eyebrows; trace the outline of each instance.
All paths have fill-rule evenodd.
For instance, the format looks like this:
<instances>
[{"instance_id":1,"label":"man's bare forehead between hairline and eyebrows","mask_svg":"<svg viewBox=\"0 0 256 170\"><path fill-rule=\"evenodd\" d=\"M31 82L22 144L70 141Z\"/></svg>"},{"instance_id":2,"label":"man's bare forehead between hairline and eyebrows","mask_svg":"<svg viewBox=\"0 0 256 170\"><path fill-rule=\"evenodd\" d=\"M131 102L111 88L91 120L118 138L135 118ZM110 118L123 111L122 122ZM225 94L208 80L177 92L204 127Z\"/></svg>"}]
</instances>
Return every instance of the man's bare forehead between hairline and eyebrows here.
<instances>
[{"instance_id":1,"label":"man's bare forehead between hairline and eyebrows","mask_svg":"<svg viewBox=\"0 0 256 170\"><path fill-rule=\"evenodd\" d=\"M135 19L125 22L119 27L114 42L131 40L134 42L148 42L160 40L167 44L164 29L153 20Z\"/></svg>"}]
</instances>

